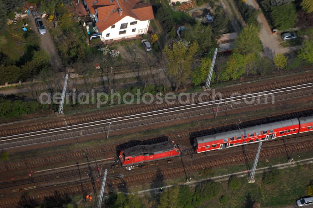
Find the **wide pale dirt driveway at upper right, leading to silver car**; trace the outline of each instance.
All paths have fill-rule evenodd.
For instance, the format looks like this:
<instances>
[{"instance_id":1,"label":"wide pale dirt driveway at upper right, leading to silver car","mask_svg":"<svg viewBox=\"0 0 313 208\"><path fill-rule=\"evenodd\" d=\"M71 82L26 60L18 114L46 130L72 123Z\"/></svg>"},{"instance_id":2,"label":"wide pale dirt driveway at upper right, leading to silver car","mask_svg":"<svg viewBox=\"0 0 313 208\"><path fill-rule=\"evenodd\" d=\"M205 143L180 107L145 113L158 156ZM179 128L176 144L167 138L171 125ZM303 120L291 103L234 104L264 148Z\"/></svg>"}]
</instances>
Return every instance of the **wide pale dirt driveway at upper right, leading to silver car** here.
<instances>
[{"instance_id":1,"label":"wide pale dirt driveway at upper right, leading to silver car","mask_svg":"<svg viewBox=\"0 0 313 208\"><path fill-rule=\"evenodd\" d=\"M255 0L246 0L246 3L248 5L253 6L256 9L259 9L259 4ZM272 59L273 55L275 54L284 54L290 51L294 51L299 49L299 46L293 46L293 47L282 47L279 42L279 36L273 35L272 31L264 17L264 14L260 12L258 16L258 21L262 24L262 28L260 30L260 39L263 44L264 52L262 55L267 56L268 58Z\"/></svg>"}]
</instances>

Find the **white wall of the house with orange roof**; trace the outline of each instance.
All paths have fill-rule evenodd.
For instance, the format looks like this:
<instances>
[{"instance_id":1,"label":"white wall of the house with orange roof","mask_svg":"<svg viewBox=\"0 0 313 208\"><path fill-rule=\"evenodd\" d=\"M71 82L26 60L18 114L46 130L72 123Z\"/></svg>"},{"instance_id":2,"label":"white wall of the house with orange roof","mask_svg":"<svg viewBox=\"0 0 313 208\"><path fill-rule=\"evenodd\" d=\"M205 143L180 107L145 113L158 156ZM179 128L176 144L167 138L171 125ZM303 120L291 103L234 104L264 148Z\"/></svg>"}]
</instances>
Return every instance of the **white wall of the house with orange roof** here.
<instances>
[{"instance_id":1,"label":"white wall of the house with orange roof","mask_svg":"<svg viewBox=\"0 0 313 208\"><path fill-rule=\"evenodd\" d=\"M133 24L130 25L131 22L135 22L137 21L137 24ZM123 23L127 23L127 28L125 29L120 29L121 28L121 24ZM102 32L102 37L101 40L102 41L109 41L109 40L119 40L119 39L124 39L124 38L132 38L132 37L136 37L136 35L140 35L140 34L146 34L148 32L148 27L149 27L149 20L146 21L140 21L140 20L136 20L135 18L126 16L123 19L121 19L120 21L118 21L117 23L115 23L115 28L111 28L111 26L107 29L105 29ZM135 31L133 32L133 29L135 29ZM126 30L125 34L120 34L120 31L124 31ZM109 34L108 37L107 34Z\"/></svg>"}]
</instances>

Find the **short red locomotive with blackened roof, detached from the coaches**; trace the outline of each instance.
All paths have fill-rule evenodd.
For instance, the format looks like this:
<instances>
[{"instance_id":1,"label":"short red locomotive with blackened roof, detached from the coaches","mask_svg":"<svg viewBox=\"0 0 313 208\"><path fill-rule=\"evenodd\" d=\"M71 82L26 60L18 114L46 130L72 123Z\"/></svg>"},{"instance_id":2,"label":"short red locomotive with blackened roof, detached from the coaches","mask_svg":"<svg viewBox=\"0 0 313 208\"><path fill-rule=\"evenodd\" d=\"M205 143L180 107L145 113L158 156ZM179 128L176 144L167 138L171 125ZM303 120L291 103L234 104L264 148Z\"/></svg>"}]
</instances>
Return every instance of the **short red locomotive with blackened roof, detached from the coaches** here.
<instances>
[{"instance_id":1,"label":"short red locomotive with blackened roof, detached from the coaches","mask_svg":"<svg viewBox=\"0 0 313 208\"><path fill-rule=\"evenodd\" d=\"M180 155L179 148L172 141L150 145L137 145L120 153L122 166L141 164Z\"/></svg>"}]
</instances>

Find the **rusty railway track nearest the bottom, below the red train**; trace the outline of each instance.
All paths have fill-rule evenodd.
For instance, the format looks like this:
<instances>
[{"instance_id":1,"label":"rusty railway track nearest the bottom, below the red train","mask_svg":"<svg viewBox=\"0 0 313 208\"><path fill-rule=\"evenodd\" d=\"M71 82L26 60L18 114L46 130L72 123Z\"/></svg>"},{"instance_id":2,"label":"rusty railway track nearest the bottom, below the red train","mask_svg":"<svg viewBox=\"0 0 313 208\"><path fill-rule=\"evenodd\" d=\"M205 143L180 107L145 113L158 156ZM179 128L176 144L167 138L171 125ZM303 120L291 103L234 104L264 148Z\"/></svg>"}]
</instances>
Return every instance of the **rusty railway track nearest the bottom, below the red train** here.
<instances>
[{"instance_id":1,"label":"rusty railway track nearest the bottom, below the red train","mask_svg":"<svg viewBox=\"0 0 313 208\"><path fill-rule=\"evenodd\" d=\"M275 156L279 154L285 154L286 152L309 150L312 148L313 148L313 141L305 142L305 143L289 145L289 146L284 146L284 147L270 149L270 150L262 150L259 157L260 158L271 157L271 156ZM242 163L245 160L253 160L254 157L255 157L255 152L245 154L245 155L239 154L233 157L226 157L226 158L219 159L219 160L193 164L192 166L188 166L189 168L180 167L180 168L174 168L174 169L160 170L158 172L144 173L144 174L139 174L139 175L129 175L122 179L113 179L113 177L108 176L107 181L114 182L115 186L119 186L122 183L127 183L127 184L135 183L135 182L139 182L142 180L151 180L151 179L159 178L159 177L169 177L169 176L176 175L176 174L183 174L186 171L189 171L189 169L191 171L197 171L200 169L225 166L225 165L230 165L230 164L235 164L235 163ZM100 189L100 186L101 186L100 181L98 183L95 183L96 189ZM18 204L27 204L27 202L29 201L43 200L44 198L58 197L60 195L70 195L70 194L75 194L75 193L88 192L90 190L92 190L92 185L90 183L82 184L82 185L80 184L73 185L73 186L69 186L68 188L63 188L60 190L53 190L53 191L42 192L40 194L24 195L23 197L15 197L11 199L0 200L0 207L3 207L3 208L13 207Z\"/></svg>"}]
</instances>

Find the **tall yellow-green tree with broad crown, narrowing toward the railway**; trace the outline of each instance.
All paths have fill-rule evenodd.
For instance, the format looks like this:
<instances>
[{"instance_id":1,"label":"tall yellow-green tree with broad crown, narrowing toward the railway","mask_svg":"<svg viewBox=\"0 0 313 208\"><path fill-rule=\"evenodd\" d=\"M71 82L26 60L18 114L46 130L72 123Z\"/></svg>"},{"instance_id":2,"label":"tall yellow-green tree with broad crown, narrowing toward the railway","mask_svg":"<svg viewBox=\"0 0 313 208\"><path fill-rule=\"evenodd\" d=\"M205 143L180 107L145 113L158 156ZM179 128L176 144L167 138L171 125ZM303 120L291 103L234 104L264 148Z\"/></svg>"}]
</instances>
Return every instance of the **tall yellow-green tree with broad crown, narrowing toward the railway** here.
<instances>
[{"instance_id":1,"label":"tall yellow-green tree with broad crown, narrowing toward the railway","mask_svg":"<svg viewBox=\"0 0 313 208\"><path fill-rule=\"evenodd\" d=\"M183 41L174 43L172 48L167 46L163 49L167 59L166 73L173 79L176 90L178 90L190 76L193 56L196 54L197 50L197 42L193 42L188 46L184 44Z\"/></svg>"}]
</instances>

